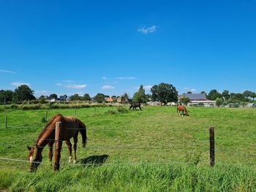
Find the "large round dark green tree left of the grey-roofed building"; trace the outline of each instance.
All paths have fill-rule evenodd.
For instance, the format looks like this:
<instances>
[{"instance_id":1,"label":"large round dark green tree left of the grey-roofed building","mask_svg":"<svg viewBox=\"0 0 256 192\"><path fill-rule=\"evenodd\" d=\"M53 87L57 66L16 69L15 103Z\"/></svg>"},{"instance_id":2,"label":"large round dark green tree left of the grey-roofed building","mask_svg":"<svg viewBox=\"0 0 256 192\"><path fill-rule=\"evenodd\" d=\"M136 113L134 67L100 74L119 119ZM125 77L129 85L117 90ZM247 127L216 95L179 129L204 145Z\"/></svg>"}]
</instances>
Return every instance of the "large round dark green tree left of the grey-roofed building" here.
<instances>
[{"instance_id":1,"label":"large round dark green tree left of the grey-roofed building","mask_svg":"<svg viewBox=\"0 0 256 192\"><path fill-rule=\"evenodd\" d=\"M165 104L171 101L178 101L178 91L176 91L176 88L171 84L162 82L159 85L154 85L151 88L151 92L154 101L160 101Z\"/></svg>"}]
</instances>

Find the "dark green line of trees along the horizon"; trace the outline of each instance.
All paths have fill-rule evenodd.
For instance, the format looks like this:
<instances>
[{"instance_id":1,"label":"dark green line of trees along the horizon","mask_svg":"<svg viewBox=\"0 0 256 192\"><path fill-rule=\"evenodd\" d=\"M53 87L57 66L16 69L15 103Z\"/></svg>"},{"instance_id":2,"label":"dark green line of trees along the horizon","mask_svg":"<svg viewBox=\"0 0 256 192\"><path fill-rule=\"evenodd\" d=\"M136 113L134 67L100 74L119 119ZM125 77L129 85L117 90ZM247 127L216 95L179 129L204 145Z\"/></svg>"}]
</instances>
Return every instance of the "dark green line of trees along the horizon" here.
<instances>
[{"instance_id":1,"label":"dark green line of trees along the horizon","mask_svg":"<svg viewBox=\"0 0 256 192\"><path fill-rule=\"evenodd\" d=\"M191 92L187 92L191 93ZM243 102L254 102L256 98L256 93L252 91L244 91L244 93L230 93L229 91L225 90L222 93L219 93L216 89L211 90L208 94L205 91L201 93L206 94L206 98L212 101L217 101L217 105L221 104L229 104L229 103L243 103ZM98 103L105 102L105 98L110 96L105 95L103 93L97 93L96 96L91 97L88 93L84 94L83 96L79 96L78 93L75 93L72 96L57 96L56 93L52 93L49 96L40 96L37 99L40 102L45 102L46 100L50 99L59 99L59 101L96 101ZM140 88L134 95L132 99L129 99L127 93L124 93L121 96L111 96L113 101L116 101L118 98L121 102L126 103L129 101L132 102L140 102L146 103L147 101L159 101L164 104L167 102L177 102L178 101L178 91L176 88L168 83L159 83L159 85L154 85L151 88L151 94L146 94L145 88L143 85L140 85ZM1 90L0 91L0 102L1 103L18 103L22 101L28 100L35 100L34 91L29 88L28 85L20 85L18 88L15 88L14 91L11 90ZM188 98L183 98L182 102L185 104L189 102Z\"/></svg>"}]
</instances>

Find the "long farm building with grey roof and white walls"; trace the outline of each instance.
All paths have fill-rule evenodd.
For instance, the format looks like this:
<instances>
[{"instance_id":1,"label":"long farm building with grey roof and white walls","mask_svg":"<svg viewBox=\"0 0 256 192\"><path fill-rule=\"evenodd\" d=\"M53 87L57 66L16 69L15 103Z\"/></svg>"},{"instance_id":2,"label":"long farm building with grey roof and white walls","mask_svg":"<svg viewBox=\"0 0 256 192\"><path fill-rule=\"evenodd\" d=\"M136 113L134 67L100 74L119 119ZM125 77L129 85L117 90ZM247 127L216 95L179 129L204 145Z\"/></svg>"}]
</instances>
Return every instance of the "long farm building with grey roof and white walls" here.
<instances>
[{"instance_id":1,"label":"long farm building with grey roof and white walls","mask_svg":"<svg viewBox=\"0 0 256 192\"><path fill-rule=\"evenodd\" d=\"M178 96L178 100L181 98L189 98L188 106L202 106L202 107L214 107L216 106L216 101L211 101L206 99L206 93L185 93Z\"/></svg>"}]
</instances>

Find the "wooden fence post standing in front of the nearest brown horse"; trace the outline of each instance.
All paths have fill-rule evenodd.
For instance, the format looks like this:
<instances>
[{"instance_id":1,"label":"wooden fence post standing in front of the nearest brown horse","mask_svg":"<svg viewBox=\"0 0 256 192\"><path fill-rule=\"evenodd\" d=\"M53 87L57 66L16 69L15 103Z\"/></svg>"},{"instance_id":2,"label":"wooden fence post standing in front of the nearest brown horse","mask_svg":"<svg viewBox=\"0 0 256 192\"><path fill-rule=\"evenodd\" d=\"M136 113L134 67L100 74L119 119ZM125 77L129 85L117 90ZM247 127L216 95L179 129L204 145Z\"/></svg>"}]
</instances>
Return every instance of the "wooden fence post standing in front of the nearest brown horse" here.
<instances>
[{"instance_id":1,"label":"wooden fence post standing in front of the nearest brown horse","mask_svg":"<svg viewBox=\"0 0 256 192\"><path fill-rule=\"evenodd\" d=\"M61 158L61 122L56 122L55 125L55 149L54 149L54 171L59 170L59 160Z\"/></svg>"}]
</instances>

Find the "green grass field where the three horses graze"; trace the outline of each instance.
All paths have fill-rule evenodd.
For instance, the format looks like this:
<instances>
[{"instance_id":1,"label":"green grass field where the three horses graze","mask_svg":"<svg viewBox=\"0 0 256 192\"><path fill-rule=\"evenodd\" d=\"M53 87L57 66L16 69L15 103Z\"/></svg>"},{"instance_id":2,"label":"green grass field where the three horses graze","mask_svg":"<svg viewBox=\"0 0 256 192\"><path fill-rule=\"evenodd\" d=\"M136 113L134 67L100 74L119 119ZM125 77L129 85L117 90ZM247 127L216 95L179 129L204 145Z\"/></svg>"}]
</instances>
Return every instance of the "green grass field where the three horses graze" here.
<instances>
[{"instance_id":1,"label":"green grass field where the three horses graze","mask_svg":"<svg viewBox=\"0 0 256 192\"><path fill-rule=\"evenodd\" d=\"M87 126L86 148L78 139L78 164L61 152L61 171L53 172L48 148L36 173L29 164L0 159L0 189L8 191L256 191L256 110L143 107L116 112L111 107L77 110ZM116 108L113 107L113 111ZM48 117L75 110L50 110ZM4 117L8 127L4 128ZM45 110L0 112L0 158L26 161L45 126ZM216 166L209 167L209 127L215 128ZM109 155L102 166L81 166L84 158Z\"/></svg>"}]
</instances>

